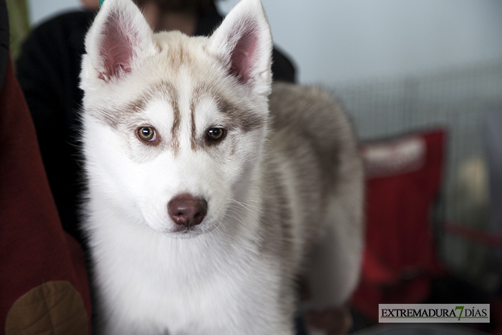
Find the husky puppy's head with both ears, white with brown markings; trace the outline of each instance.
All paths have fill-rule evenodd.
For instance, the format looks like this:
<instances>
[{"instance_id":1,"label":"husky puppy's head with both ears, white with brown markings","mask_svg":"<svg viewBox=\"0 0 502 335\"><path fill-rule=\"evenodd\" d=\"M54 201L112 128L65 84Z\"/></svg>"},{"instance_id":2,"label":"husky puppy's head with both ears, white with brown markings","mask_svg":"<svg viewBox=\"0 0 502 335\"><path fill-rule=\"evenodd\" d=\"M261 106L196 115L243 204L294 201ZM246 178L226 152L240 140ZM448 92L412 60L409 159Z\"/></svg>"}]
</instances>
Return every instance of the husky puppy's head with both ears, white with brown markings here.
<instances>
[{"instance_id":1,"label":"husky puppy's head with both ears, white with brown markings","mask_svg":"<svg viewBox=\"0 0 502 335\"><path fill-rule=\"evenodd\" d=\"M158 232L192 237L228 221L268 129L272 40L260 1L243 1L209 38L190 38L153 34L131 0L107 0L85 44L85 154L100 171L89 182L127 195L116 206L136 208ZM190 219L168 210L179 199L207 202L200 223L180 228Z\"/></svg>"}]
</instances>

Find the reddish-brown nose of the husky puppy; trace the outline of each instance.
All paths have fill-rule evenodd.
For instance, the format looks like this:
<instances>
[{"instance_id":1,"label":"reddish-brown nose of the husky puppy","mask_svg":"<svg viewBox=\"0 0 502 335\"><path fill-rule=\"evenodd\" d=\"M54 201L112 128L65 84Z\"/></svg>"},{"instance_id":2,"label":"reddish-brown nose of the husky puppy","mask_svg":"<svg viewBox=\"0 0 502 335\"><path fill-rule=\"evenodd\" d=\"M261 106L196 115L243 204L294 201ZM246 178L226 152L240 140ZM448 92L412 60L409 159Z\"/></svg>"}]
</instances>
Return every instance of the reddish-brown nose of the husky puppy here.
<instances>
[{"instance_id":1,"label":"reddish-brown nose of the husky puppy","mask_svg":"<svg viewBox=\"0 0 502 335\"><path fill-rule=\"evenodd\" d=\"M168 202L167 212L175 224L188 228L202 222L208 213L208 202L201 197L181 194Z\"/></svg>"}]
</instances>

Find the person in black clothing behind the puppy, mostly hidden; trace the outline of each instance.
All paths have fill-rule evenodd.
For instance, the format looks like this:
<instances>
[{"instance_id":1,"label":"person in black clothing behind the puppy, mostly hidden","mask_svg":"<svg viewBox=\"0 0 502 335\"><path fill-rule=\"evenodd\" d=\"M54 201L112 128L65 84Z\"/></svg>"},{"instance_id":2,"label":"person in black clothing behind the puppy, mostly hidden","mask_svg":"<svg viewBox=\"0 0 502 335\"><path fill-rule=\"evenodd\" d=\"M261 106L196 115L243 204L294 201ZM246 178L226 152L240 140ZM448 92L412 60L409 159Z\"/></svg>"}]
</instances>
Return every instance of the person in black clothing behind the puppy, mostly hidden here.
<instances>
[{"instance_id":1,"label":"person in black clothing behind the puppy, mostly hidden","mask_svg":"<svg viewBox=\"0 0 502 335\"><path fill-rule=\"evenodd\" d=\"M98 3L85 2L95 2L95 8ZM223 19L212 0L136 0L136 3L154 30L179 27L187 34L207 36ZM78 229L83 184L78 155L78 114L83 91L78 86L85 34L95 15L94 10L69 12L43 23L23 43L16 63L17 78L30 107L63 228L84 248L85 239ZM272 72L274 80L295 81L294 66L275 48Z\"/></svg>"}]
</instances>

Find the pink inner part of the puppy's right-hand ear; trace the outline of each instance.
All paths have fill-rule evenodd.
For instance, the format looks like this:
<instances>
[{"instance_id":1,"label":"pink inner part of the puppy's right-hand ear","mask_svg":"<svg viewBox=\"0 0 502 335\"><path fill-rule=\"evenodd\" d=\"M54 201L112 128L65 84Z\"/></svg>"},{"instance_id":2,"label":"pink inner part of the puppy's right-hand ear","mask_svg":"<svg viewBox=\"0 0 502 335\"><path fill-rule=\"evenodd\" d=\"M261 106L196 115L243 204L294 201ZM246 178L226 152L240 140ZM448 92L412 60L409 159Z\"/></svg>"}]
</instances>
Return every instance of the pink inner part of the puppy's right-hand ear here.
<instances>
[{"instance_id":1,"label":"pink inner part of the puppy's right-hand ear","mask_svg":"<svg viewBox=\"0 0 502 335\"><path fill-rule=\"evenodd\" d=\"M248 28L240 36L239 41L230 54L230 74L241 83L248 83L252 71L258 61L258 32L253 23L247 23Z\"/></svg>"}]
</instances>

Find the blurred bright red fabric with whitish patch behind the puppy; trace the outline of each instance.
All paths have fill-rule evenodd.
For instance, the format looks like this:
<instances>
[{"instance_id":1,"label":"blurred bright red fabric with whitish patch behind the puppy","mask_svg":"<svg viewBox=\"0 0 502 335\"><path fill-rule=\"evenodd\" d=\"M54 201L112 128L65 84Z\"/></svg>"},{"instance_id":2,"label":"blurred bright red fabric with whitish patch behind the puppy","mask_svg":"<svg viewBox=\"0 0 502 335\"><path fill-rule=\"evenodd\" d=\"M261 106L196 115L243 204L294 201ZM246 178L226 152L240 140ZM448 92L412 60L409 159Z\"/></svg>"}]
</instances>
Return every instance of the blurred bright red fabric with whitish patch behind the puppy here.
<instances>
[{"instance_id":1,"label":"blurred bright red fabric with whitish patch behind the puppy","mask_svg":"<svg viewBox=\"0 0 502 335\"><path fill-rule=\"evenodd\" d=\"M371 321L379 303L420 303L437 264L431 210L439 194L446 134L411 134L364 145L367 231L354 309Z\"/></svg>"}]
</instances>

